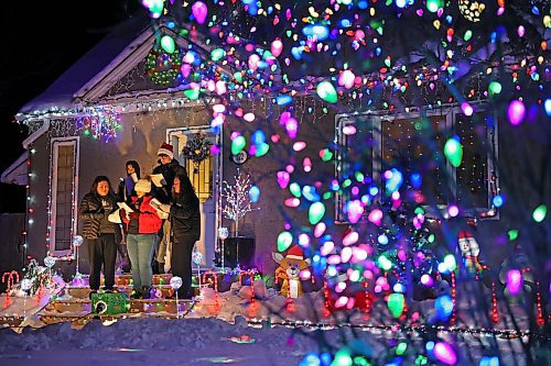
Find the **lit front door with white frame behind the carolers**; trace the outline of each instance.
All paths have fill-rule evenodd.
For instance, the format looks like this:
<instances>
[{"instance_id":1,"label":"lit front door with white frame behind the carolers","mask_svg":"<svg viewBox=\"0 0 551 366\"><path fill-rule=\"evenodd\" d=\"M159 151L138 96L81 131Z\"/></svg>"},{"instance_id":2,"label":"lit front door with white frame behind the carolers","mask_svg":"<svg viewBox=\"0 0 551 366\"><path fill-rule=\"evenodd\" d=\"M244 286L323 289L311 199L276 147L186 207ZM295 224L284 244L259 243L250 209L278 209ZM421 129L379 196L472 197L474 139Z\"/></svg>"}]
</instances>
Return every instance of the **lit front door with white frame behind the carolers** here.
<instances>
[{"instance_id":1,"label":"lit front door with white frame behind the carolers","mask_svg":"<svg viewBox=\"0 0 551 366\"><path fill-rule=\"evenodd\" d=\"M181 127L166 131L169 143L174 146L174 158L187 170L187 176L195 188L195 193L201 202L201 239L195 244L196 248L203 254L202 267L210 268L213 266L215 254L216 235L216 177L217 158L209 155L202 162L194 162L186 158L184 147L197 138L198 134L204 136L204 141L212 144L216 143L216 136L209 132L209 126L201 127ZM195 266L195 264L192 264Z\"/></svg>"}]
</instances>

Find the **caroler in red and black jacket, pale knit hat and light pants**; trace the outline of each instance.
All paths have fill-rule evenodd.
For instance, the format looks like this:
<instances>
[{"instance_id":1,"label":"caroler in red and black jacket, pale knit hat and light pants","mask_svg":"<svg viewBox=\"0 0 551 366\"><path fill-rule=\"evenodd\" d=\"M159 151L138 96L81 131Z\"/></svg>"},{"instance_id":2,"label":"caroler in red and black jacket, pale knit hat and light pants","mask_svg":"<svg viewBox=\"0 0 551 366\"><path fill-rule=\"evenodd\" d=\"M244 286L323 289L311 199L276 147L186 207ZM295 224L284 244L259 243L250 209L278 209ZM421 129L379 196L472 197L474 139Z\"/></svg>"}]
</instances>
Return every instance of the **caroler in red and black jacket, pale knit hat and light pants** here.
<instances>
[{"instance_id":1,"label":"caroler in red and black jacket, pale knit hat and light pants","mask_svg":"<svg viewBox=\"0 0 551 366\"><path fill-rule=\"evenodd\" d=\"M156 210L150 204L153 198L151 180L140 179L134 186L136 195L129 204L132 212L121 210L126 223L127 248L132 265L134 292L132 298L149 298L153 271L151 260L155 249L156 233L162 221Z\"/></svg>"}]
</instances>

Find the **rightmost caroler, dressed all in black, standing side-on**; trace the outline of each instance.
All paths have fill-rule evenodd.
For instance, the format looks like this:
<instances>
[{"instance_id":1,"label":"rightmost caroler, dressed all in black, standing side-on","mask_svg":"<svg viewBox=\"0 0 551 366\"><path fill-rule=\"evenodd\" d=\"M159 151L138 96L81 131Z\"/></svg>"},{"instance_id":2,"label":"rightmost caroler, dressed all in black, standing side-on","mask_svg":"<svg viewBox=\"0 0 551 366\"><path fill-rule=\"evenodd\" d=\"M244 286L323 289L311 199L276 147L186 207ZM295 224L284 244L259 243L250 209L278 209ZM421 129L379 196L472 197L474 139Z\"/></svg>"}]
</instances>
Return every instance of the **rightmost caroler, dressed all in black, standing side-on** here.
<instances>
[{"instance_id":1,"label":"rightmost caroler, dressed all in black, standing side-on","mask_svg":"<svg viewBox=\"0 0 551 366\"><path fill-rule=\"evenodd\" d=\"M170 218L173 234L172 274L182 277L179 298L191 299L192 253L195 242L201 237L201 213L199 200L185 174L174 178Z\"/></svg>"}]
</instances>

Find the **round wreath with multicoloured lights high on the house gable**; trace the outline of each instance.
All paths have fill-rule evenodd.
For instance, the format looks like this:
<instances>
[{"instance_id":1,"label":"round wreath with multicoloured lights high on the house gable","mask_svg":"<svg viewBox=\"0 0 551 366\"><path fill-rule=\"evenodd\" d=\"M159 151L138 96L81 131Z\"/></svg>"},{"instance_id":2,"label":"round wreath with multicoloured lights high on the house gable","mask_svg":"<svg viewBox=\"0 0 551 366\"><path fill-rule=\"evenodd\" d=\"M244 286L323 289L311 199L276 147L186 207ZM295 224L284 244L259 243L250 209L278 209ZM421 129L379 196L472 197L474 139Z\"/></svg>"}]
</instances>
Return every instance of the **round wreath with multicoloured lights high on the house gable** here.
<instances>
[{"instance_id":1,"label":"round wreath with multicoloured lights high on the house gable","mask_svg":"<svg viewBox=\"0 0 551 366\"><path fill-rule=\"evenodd\" d=\"M145 68L149 78L156 85L168 86L180 78L182 67L182 49L169 54L159 48L152 48L145 58Z\"/></svg>"}]
</instances>

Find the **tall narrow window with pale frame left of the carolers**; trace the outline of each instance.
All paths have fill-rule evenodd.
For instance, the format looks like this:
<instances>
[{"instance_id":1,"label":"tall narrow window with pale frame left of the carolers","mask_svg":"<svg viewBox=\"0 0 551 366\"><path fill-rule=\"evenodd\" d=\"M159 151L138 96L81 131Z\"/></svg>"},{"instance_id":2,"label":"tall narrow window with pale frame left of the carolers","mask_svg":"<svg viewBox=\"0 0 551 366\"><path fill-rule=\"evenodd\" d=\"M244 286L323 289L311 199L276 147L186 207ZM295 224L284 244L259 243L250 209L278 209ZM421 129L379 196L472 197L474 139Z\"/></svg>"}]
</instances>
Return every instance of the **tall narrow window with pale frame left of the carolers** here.
<instances>
[{"instance_id":1,"label":"tall narrow window with pale frame left of the carolers","mask_svg":"<svg viewBox=\"0 0 551 366\"><path fill-rule=\"evenodd\" d=\"M54 138L52 156L50 252L62 257L73 254L72 242L76 231L78 137Z\"/></svg>"}]
</instances>

